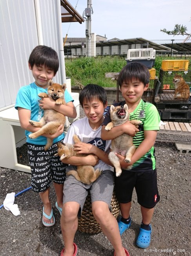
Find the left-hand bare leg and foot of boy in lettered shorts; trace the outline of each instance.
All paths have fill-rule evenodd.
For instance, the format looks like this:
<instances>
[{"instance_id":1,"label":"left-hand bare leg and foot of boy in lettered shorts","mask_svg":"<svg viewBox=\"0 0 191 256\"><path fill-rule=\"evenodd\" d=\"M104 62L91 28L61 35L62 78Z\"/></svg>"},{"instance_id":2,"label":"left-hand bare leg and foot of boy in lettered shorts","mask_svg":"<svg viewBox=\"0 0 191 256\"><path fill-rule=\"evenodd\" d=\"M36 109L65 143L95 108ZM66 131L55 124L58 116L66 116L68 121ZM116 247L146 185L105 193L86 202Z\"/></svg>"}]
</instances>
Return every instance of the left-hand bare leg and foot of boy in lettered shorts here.
<instances>
[{"instance_id":1,"label":"left-hand bare leg and foot of boy in lettered shorts","mask_svg":"<svg viewBox=\"0 0 191 256\"><path fill-rule=\"evenodd\" d=\"M40 198L41 198L41 200L44 204L44 213L46 213L47 215L50 215L51 210L52 210L52 206L51 206L51 203L50 203L50 200L49 200L49 192L50 192L50 187L47 188L44 192L39 193ZM50 224L50 223L54 222L53 218L47 219L44 215L42 217L43 217L43 221L45 223Z\"/></svg>"}]
</instances>

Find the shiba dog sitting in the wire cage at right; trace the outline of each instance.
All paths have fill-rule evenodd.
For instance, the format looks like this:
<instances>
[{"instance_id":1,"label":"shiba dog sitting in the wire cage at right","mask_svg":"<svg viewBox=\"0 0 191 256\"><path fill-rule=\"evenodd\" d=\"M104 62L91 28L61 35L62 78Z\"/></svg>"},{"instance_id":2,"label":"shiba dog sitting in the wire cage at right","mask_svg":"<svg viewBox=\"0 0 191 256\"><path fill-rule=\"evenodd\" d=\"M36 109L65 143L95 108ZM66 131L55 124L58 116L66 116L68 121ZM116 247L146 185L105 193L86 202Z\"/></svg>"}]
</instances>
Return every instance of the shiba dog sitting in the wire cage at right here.
<instances>
[{"instance_id":1,"label":"shiba dog sitting in the wire cage at right","mask_svg":"<svg viewBox=\"0 0 191 256\"><path fill-rule=\"evenodd\" d=\"M182 76L175 75L173 83L175 85L175 98L188 99L190 95L190 88Z\"/></svg>"}]
</instances>

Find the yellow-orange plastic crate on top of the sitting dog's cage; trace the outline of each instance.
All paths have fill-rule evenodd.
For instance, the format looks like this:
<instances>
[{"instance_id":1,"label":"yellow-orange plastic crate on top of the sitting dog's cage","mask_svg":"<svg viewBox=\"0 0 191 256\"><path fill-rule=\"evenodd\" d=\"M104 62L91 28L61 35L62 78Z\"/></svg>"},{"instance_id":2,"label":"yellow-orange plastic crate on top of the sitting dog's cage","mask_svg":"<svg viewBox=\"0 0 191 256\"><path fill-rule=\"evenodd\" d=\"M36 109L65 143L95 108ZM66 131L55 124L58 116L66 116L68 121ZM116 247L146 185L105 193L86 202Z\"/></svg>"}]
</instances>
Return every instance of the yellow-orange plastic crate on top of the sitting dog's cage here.
<instances>
[{"instance_id":1,"label":"yellow-orange plastic crate on top of the sitting dog's cage","mask_svg":"<svg viewBox=\"0 0 191 256\"><path fill-rule=\"evenodd\" d=\"M164 71L176 71L176 70L188 70L188 59L168 59L162 61L162 70Z\"/></svg>"}]
</instances>

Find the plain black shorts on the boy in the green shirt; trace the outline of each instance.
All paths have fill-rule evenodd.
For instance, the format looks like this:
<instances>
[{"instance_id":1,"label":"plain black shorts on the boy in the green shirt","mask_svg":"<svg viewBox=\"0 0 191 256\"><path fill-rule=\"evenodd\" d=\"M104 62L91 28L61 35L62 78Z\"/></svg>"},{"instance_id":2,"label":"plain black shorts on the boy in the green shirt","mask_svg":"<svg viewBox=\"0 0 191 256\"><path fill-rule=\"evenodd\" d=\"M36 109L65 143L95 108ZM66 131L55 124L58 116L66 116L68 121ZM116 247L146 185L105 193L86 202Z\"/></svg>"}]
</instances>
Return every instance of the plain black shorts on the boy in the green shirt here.
<instances>
[{"instance_id":1,"label":"plain black shorts on the boy in the green shirt","mask_svg":"<svg viewBox=\"0 0 191 256\"><path fill-rule=\"evenodd\" d=\"M155 207L160 200L157 188L156 169L147 172L133 172L122 170L122 174L116 177L116 198L122 204L131 202L135 187L138 203L148 209Z\"/></svg>"}]
</instances>

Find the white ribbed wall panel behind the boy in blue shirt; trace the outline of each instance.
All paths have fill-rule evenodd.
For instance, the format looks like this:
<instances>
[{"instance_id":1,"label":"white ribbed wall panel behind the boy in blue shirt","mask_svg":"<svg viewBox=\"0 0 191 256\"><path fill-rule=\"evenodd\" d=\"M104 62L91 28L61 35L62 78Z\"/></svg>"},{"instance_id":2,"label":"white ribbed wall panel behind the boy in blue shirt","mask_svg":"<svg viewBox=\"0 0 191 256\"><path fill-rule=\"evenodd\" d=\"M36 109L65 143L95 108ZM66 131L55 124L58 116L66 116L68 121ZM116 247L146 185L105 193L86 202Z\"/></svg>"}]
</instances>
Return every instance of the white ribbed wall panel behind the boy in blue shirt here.
<instances>
[{"instance_id":1,"label":"white ribbed wall panel behind the boy in blue shirt","mask_svg":"<svg viewBox=\"0 0 191 256\"><path fill-rule=\"evenodd\" d=\"M28 69L38 45L33 0L0 0L0 109L15 104L18 89L33 82Z\"/></svg>"}]
</instances>

